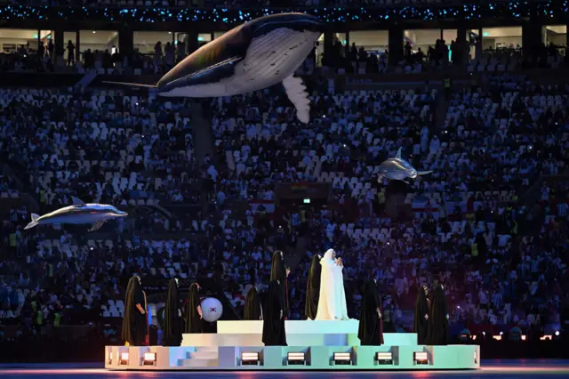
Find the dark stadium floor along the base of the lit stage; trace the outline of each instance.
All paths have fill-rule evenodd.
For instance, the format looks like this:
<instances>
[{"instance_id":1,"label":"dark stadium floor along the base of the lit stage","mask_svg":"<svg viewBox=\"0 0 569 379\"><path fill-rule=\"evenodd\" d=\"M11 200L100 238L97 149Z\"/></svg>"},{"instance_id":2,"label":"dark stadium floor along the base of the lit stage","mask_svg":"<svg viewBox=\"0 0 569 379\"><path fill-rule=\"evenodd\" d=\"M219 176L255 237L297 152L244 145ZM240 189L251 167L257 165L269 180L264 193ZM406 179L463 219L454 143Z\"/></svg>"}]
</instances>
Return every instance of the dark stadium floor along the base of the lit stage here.
<instances>
[{"instance_id":1,"label":"dark stadium floor along the base of the lit stage","mask_svg":"<svg viewBox=\"0 0 569 379\"><path fill-rule=\"evenodd\" d=\"M444 372L349 372L349 373L299 373L299 372L111 372L97 368L92 364L36 364L36 365L0 365L0 377L28 379L41 376L44 379L111 379L111 378L161 378L176 379L193 376L204 379L323 379L323 378L520 378L533 379L549 377L569 377L568 360L490 360L482 361L482 368L477 371Z\"/></svg>"}]
</instances>

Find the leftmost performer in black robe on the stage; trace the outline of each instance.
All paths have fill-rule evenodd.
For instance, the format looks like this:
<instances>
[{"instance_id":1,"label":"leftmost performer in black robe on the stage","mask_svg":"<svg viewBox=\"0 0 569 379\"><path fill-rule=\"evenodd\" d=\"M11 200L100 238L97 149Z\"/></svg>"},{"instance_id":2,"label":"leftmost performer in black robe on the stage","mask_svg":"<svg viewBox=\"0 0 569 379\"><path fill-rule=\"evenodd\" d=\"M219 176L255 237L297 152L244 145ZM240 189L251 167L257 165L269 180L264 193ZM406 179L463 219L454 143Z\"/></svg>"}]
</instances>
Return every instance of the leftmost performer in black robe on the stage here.
<instances>
[{"instance_id":1,"label":"leftmost performer in black robe on the stage","mask_svg":"<svg viewBox=\"0 0 569 379\"><path fill-rule=\"evenodd\" d=\"M134 276L126 286L122 336L127 346L148 345L148 321L146 295L140 277Z\"/></svg>"}]
</instances>

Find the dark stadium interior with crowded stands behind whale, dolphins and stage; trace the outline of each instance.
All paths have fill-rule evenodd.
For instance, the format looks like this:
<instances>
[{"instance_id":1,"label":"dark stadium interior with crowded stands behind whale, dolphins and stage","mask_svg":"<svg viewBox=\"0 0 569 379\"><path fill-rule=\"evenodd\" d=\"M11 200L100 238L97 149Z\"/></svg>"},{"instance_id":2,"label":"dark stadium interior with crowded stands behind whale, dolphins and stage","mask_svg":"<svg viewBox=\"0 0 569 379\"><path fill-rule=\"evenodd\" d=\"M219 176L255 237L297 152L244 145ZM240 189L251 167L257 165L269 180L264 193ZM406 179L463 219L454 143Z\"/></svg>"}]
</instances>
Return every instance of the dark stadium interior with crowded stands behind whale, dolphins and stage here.
<instances>
[{"instance_id":1,"label":"dark stadium interior with crowded stands behind whale, dolphins and stage","mask_svg":"<svg viewBox=\"0 0 569 379\"><path fill-rule=\"evenodd\" d=\"M170 279L184 307L196 282L202 299L219 299L220 320L240 320L252 286L265 301L278 250L291 269L286 317L307 319L310 260L328 249L343 262L350 319L361 282L375 278L383 333L411 333L421 286L444 284L448 343L481 346L476 372L358 376L569 375L564 2L0 0L0 10L3 377L324 376L99 367L105 346L124 345L133 275L154 346ZM108 84L156 85L200 46L280 12L325 26L295 72L309 124L280 84L204 99ZM378 181L399 148L433 173ZM72 197L128 216L94 231L24 230Z\"/></svg>"}]
</instances>

